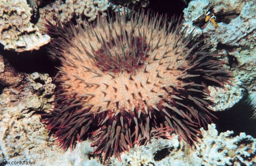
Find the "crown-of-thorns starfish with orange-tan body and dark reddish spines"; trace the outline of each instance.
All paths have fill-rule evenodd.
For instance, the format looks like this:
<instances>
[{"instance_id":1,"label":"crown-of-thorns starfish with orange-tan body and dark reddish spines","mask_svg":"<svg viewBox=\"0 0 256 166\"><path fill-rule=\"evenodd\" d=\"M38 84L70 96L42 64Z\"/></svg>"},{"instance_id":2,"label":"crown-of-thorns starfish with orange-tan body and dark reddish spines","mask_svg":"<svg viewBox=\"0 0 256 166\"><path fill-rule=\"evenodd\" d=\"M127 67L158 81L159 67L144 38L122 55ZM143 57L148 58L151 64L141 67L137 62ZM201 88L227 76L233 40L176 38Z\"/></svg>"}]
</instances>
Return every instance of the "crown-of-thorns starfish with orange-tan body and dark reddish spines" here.
<instances>
[{"instance_id":1,"label":"crown-of-thorns starfish with orange-tan body and dark reddish spines","mask_svg":"<svg viewBox=\"0 0 256 166\"><path fill-rule=\"evenodd\" d=\"M214 117L207 85L231 84L226 62L185 35L180 20L149 12L126 19L46 25L49 53L62 66L55 108L43 121L64 148L93 137L104 161L170 133L192 144Z\"/></svg>"}]
</instances>

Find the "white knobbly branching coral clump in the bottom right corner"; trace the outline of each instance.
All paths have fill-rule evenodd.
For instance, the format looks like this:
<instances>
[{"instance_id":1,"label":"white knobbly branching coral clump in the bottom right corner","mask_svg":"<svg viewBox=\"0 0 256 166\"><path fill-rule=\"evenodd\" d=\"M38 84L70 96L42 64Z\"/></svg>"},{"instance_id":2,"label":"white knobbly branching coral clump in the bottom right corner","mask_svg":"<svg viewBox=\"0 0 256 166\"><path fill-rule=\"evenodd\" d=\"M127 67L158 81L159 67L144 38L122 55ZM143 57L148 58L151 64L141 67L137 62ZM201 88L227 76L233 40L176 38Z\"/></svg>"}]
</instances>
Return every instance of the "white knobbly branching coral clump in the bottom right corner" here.
<instances>
[{"instance_id":1,"label":"white knobbly branching coral clump in the bottom right corner","mask_svg":"<svg viewBox=\"0 0 256 166\"><path fill-rule=\"evenodd\" d=\"M218 135L215 124L208 125L208 131L203 128L202 143L198 153L202 155L205 166L226 166L245 164L250 166L255 160L256 139L245 133L232 137L233 131Z\"/></svg>"}]
</instances>

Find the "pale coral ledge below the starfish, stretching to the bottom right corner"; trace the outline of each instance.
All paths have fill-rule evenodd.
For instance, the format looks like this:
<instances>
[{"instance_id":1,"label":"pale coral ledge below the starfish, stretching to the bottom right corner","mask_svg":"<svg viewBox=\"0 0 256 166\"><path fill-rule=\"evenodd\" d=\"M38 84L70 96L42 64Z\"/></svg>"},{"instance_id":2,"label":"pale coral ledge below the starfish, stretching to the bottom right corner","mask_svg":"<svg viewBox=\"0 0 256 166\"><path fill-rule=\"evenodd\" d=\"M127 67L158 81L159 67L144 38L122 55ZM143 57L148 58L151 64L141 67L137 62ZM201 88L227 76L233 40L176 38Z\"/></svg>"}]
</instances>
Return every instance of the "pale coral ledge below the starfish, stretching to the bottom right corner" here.
<instances>
[{"instance_id":1,"label":"pale coral ledge below the starfish, stretching to the bottom right corner","mask_svg":"<svg viewBox=\"0 0 256 166\"><path fill-rule=\"evenodd\" d=\"M195 149L173 135L170 140L153 139L150 144L133 148L130 153L122 154L122 163L111 160L110 166L144 165L153 166L251 166L256 163L256 139L245 133L232 137L232 131L218 135L214 124L202 131L202 143ZM158 152L161 153L157 156ZM148 165L150 165L148 164Z\"/></svg>"}]
</instances>

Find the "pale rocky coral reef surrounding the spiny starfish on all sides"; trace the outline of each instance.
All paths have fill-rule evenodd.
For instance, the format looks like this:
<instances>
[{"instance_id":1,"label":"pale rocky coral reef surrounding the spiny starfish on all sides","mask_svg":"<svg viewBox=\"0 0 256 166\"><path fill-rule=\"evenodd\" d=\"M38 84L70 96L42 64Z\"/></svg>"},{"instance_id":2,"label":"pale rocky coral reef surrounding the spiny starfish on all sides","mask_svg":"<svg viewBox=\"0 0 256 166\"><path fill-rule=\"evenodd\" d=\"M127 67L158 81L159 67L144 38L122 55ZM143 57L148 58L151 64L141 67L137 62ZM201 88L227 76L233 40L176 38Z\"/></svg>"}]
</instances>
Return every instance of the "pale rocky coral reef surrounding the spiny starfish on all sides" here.
<instances>
[{"instance_id":1,"label":"pale rocky coral reef surrounding the spiny starfish on all sides","mask_svg":"<svg viewBox=\"0 0 256 166\"><path fill-rule=\"evenodd\" d=\"M79 20L88 17L81 13L83 6L78 7L74 3L78 1L73 0L71 5L68 0L0 0L0 43L5 49L16 52L39 49L50 41L48 35L40 33L44 30L45 19L56 25L56 20L61 17L64 22L73 17ZM91 3L94 1L91 0L88 7L101 8L97 9L98 12L105 15L107 0L101 1L104 4L102 7ZM148 5L148 0L113 0L112 2L114 1L119 4L135 4L137 7ZM213 50L222 50L222 57L225 61L228 57L229 66L234 72L234 86L224 85L225 89L208 86L211 96L208 100L214 99L211 109L215 111L229 109L240 101L247 91L250 98L253 98L256 94L256 2L253 0L182 1L187 4L190 2L188 8L184 10L184 25L188 26L187 32L190 33L195 28L194 37L203 36L205 41L215 45ZM87 2L89 3L89 0ZM57 6L61 6L62 9L58 10ZM70 7L72 9L74 6L77 7L76 12L75 9L70 10ZM86 7L84 6L84 11L88 10ZM208 10L215 14L218 27L204 21ZM87 19L94 20L98 12L94 8ZM65 16L70 18L64 18ZM104 34L102 36L104 37ZM0 50L0 54L3 53L4 51ZM8 53L5 52L4 57L8 57ZM48 74L38 73L39 71L18 72L18 68L11 66L12 63L10 64L4 57L0 55L0 162L24 160L34 161L37 166L103 166L102 158L98 158L93 153L96 148L90 146L93 141L82 141L77 143L74 150L64 151L55 144L54 135L48 135L46 126L40 122L40 114L50 113L53 108L51 102L55 98L53 94L55 85L52 83L52 78ZM244 106L240 111L247 109L248 107ZM232 109L220 113L227 113L226 116L229 117L229 112L234 116ZM208 130L200 129L202 139L192 148L174 134L170 135L170 139L150 139L146 145L135 145L129 152L122 152L120 155L122 162L118 158L111 157L109 166L256 166L256 140L245 133L237 134L244 131L243 127L248 129L246 126L248 123L242 121L248 119L242 117L244 114L246 113L239 113L240 120L234 119L235 122L232 123L235 135L226 129L218 129L225 131L220 133L215 125L211 124L208 125ZM256 113L254 115L256 117ZM225 117L221 119L221 124L225 126L228 120ZM218 123L216 124L220 127ZM254 125L250 126L254 127Z\"/></svg>"}]
</instances>

